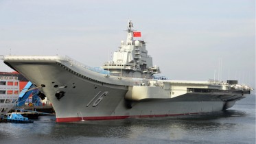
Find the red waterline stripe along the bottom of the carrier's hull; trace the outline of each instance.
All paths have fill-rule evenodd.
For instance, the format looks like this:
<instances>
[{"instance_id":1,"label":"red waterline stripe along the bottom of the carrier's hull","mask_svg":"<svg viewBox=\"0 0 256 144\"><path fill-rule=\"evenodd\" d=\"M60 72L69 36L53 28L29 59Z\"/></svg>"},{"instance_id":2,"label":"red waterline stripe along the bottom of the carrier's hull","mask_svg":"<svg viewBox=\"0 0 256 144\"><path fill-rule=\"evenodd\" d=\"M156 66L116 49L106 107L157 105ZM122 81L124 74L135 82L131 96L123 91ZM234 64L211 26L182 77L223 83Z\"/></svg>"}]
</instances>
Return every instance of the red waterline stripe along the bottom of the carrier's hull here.
<instances>
[{"instance_id":1,"label":"red waterline stripe along the bottom of the carrier's hull","mask_svg":"<svg viewBox=\"0 0 256 144\"><path fill-rule=\"evenodd\" d=\"M188 114L172 114L172 115L135 115L135 116L108 116L108 117L65 117L56 118L56 122L71 122L71 121L92 121L92 120L108 120L108 119L127 119L127 118L146 118L146 117L171 117L179 115L196 115L204 112L188 113Z\"/></svg>"}]
</instances>

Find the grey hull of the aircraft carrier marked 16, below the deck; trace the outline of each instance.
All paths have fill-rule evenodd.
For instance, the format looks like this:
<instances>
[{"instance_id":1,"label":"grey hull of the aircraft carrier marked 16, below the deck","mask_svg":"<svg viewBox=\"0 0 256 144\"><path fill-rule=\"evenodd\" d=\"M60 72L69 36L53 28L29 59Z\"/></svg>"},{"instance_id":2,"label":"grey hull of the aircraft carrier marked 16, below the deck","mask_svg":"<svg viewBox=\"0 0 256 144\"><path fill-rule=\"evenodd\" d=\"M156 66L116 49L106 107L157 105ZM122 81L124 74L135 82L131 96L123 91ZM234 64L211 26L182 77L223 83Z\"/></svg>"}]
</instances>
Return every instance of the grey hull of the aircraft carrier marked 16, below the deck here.
<instances>
[{"instance_id":1,"label":"grey hull of the aircraft carrier marked 16, below the deck","mask_svg":"<svg viewBox=\"0 0 256 144\"><path fill-rule=\"evenodd\" d=\"M36 86L43 86L41 91L51 101L57 122L215 112L230 108L236 100L244 97L244 93L238 92L211 92L132 101L125 98L129 89L126 80L124 85L117 84L112 79L105 80L106 75L87 73L78 67L69 67L65 62L5 61L5 64L19 71ZM56 93L62 93L62 97Z\"/></svg>"}]
</instances>

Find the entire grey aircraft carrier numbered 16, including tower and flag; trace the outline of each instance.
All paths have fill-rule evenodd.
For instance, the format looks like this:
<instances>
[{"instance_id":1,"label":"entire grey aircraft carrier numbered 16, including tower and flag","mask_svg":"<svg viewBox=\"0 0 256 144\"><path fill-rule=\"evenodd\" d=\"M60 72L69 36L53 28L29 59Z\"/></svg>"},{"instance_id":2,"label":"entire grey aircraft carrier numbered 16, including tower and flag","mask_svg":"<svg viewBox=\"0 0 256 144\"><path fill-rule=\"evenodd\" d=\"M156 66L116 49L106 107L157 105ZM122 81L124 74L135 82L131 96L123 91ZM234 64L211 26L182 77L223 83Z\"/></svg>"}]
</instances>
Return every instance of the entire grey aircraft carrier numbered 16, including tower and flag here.
<instances>
[{"instance_id":1,"label":"entire grey aircraft carrier numbered 16, including tower and flag","mask_svg":"<svg viewBox=\"0 0 256 144\"><path fill-rule=\"evenodd\" d=\"M231 108L251 88L237 82L156 80L160 73L146 43L128 22L127 39L102 69L68 56L4 56L51 101L57 122L165 117L215 112ZM231 84L231 82L233 82Z\"/></svg>"}]
</instances>

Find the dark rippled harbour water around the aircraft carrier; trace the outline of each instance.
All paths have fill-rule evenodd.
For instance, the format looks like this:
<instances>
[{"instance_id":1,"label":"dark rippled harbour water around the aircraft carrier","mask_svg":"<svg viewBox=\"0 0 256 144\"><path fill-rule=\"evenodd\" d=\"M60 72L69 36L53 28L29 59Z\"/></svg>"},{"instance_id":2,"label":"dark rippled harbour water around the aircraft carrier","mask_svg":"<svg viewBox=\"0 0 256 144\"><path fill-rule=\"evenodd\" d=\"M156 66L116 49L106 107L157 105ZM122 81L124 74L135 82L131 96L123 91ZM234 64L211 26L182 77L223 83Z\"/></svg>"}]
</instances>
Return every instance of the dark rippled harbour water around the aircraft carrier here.
<instances>
[{"instance_id":1,"label":"dark rippled harbour water around the aircraft carrier","mask_svg":"<svg viewBox=\"0 0 256 144\"><path fill-rule=\"evenodd\" d=\"M0 143L255 143L255 95L223 112L178 117L0 123Z\"/></svg>"}]
</instances>

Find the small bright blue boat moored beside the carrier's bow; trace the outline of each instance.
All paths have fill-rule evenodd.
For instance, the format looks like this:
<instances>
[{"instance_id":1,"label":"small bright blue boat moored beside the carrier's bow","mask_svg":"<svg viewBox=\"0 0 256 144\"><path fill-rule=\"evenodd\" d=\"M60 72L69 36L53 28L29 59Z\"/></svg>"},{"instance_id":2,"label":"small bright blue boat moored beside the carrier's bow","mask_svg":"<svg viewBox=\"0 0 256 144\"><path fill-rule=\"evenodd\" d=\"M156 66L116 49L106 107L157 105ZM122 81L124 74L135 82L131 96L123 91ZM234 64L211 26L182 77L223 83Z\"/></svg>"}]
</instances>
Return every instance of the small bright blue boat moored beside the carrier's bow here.
<instances>
[{"instance_id":1,"label":"small bright blue boat moored beside the carrier's bow","mask_svg":"<svg viewBox=\"0 0 256 144\"><path fill-rule=\"evenodd\" d=\"M9 113L5 119L8 122L14 123L34 123L33 120L30 120L27 117L23 117L21 114L16 112Z\"/></svg>"}]
</instances>

